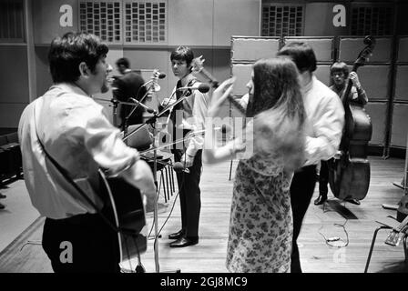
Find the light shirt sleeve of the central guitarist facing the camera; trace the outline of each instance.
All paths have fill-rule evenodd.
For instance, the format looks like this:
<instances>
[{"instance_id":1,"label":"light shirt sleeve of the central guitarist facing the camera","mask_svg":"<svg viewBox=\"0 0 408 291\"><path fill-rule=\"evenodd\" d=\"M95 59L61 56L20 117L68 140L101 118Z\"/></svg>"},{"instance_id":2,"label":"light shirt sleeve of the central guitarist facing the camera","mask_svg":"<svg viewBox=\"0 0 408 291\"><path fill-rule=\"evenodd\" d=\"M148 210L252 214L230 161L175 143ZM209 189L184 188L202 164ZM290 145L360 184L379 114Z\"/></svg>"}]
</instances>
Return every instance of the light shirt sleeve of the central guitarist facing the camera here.
<instances>
[{"instance_id":1,"label":"light shirt sleeve of the central guitarist facing the camera","mask_svg":"<svg viewBox=\"0 0 408 291\"><path fill-rule=\"evenodd\" d=\"M192 105L192 127L193 131L203 130L205 128L205 118L208 110L209 96L200 93L199 90L194 92L194 104ZM194 135L189 141L186 154L189 156L196 156L199 149L204 145L204 134Z\"/></svg>"}]
</instances>

